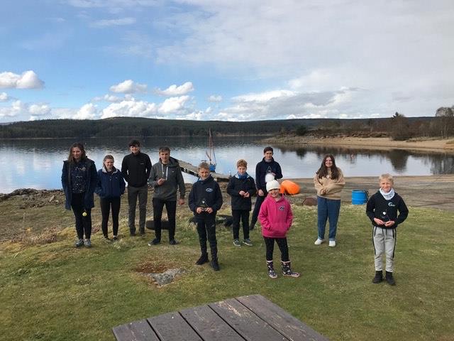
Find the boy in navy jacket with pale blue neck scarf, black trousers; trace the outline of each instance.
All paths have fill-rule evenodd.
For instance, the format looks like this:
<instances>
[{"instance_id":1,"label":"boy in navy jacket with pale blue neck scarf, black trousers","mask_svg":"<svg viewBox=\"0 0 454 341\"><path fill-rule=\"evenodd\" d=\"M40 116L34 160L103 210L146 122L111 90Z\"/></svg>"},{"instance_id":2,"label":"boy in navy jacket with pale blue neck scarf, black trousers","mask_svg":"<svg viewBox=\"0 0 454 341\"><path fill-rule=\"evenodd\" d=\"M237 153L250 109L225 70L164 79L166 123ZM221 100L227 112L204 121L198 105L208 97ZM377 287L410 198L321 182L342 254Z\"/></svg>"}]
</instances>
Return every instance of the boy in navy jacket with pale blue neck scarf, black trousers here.
<instances>
[{"instance_id":1,"label":"boy in navy jacket with pale blue neck scarf, black trousers","mask_svg":"<svg viewBox=\"0 0 454 341\"><path fill-rule=\"evenodd\" d=\"M250 197L257 193L255 181L246 172L248 163L240 159L236 163L238 173L231 177L227 185L227 193L231 196L231 207L233 216L233 245L240 247L240 220L243 223L243 244L252 247L249 239L249 212L252 207Z\"/></svg>"}]
</instances>

